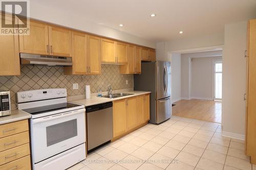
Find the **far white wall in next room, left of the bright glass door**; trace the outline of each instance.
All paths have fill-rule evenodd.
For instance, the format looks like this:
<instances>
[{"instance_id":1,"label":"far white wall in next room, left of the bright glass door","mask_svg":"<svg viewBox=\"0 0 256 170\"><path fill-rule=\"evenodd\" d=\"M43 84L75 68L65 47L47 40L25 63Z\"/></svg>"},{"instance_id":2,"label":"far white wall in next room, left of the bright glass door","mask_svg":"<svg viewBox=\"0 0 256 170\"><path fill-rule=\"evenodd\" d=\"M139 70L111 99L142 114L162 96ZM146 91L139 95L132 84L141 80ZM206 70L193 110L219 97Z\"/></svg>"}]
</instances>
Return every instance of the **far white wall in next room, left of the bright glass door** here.
<instances>
[{"instance_id":1,"label":"far white wall in next room, left of the bright glass door","mask_svg":"<svg viewBox=\"0 0 256 170\"><path fill-rule=\"evenodd\" d=\"M222 57L199 57L191 59L190 98L214 100L214 60L222 60Z\"/></svg>"}]
</instances>

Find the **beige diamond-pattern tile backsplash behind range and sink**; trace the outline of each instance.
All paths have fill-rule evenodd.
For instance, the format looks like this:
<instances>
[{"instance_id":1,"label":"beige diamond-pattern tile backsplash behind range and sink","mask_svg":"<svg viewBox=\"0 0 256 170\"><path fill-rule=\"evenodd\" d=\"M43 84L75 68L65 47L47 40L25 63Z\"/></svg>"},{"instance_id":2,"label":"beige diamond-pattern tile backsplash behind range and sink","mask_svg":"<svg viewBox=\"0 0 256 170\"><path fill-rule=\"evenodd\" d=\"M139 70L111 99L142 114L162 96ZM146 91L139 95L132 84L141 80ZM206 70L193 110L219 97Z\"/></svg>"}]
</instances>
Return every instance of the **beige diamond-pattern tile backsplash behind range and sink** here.
<instances>
[{"instance_id":1,"label":"beige diamond-pattern tile backsplash behind range and sink","mask_svg":"<svg viewBox=\"0 0 256 170\"><path fill-rule=\"evenodd\" d=\"M125 80L128 80L127 85ZM79 89L73 90L73 83L78 83ZM118 65L102 64L101 75L64 75L63 67L22 65L20 76L0 76L0 90L10 91L12 104L16 102L18 91L66 88L70 96L85 94L86 85L91 85L92 93L99 89L107 91L109 84L113 90L133 88L133 75L119 74Z\"/></svg>"}]
</instances>

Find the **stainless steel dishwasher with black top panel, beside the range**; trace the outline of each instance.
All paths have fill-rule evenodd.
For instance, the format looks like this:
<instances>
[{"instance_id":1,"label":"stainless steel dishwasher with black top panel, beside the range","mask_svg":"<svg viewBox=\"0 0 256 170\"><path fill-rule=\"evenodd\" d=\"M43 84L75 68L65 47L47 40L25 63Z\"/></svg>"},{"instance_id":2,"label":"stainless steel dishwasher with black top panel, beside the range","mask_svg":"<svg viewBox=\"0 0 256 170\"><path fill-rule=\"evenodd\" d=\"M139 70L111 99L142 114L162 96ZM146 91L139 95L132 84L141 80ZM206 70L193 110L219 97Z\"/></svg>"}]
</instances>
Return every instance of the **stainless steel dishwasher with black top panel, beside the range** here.
<instances>
[{"instance_id":1,"label":"stainless steel dishwasher with black top panel, beside the range","mask_svg":"<svg viewBox=\"0 0 256 170\"><path fill-rule=\"evenodd\" d=\"M113 103L86 107L88 151L113 138Z\"/></svg>"}]
</instances>

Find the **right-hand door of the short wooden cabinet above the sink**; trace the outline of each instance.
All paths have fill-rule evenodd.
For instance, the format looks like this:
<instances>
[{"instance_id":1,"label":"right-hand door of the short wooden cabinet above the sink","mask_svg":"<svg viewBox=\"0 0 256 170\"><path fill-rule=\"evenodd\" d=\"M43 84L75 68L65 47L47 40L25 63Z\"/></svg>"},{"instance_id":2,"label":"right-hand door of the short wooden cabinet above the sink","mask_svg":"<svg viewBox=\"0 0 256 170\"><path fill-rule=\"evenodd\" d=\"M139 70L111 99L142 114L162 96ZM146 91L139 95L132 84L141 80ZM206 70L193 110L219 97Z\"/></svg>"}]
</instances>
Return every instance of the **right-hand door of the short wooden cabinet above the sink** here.
<instances>
[{"instance_id":1,"label":"right-hand door of the short wooden cabinet above the sink","mask_svg":"<svg viewBox=\"0 0 256 170\"><path fill-rule=\"evenodd\" d=\"M117 63L127 63L127 44L122 42L115 42L116 43L116 62Z\"/></svg>"}]
</instances>

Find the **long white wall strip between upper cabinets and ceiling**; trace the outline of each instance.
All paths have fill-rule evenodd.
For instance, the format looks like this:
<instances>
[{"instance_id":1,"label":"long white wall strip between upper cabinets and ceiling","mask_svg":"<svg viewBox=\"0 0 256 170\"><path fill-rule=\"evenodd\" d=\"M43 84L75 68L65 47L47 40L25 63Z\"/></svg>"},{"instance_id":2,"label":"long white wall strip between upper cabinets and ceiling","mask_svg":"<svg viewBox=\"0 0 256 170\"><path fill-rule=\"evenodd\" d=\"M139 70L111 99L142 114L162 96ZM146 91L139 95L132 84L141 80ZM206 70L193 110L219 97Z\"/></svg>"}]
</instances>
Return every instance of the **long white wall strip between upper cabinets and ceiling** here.
<instances>
[{"instance_id":1,"label":"long white wall strip between upper cabinets and ceiling","mask_svg":"<svg viewBox=\"0 0 256 170\"><path fill-rule=\"evenodd\" d=\"M108 28L86 20L86 17L77 16L61 9L44 6L40 1L30 1L30 17L41 21L47 21L57 25L77 29L96 35L118 39L138 45L156 48L156 43L140 37L124 33L119 30Z\"/></svg>"}]
</instances>

